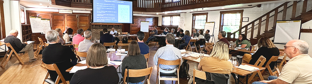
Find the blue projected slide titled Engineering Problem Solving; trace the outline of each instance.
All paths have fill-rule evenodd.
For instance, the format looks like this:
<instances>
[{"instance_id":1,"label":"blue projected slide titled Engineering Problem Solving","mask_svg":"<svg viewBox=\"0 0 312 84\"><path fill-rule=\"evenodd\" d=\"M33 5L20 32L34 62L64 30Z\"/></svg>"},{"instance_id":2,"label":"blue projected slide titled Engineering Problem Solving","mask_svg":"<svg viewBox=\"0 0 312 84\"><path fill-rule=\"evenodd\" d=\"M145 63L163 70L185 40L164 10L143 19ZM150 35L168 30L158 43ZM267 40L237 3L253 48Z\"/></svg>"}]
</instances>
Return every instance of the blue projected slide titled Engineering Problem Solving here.
<instances>
[{"instance_id":1,"label":"blue projected slide titled Engineering Problem Solving","mask_svg":"<svg viewBox=\"0 0 312 84\"><path fill-rule=\"evenodd\" d=\"M93 0L94 23L132 23L132 2Z\"/></svg>"}]
</instances>

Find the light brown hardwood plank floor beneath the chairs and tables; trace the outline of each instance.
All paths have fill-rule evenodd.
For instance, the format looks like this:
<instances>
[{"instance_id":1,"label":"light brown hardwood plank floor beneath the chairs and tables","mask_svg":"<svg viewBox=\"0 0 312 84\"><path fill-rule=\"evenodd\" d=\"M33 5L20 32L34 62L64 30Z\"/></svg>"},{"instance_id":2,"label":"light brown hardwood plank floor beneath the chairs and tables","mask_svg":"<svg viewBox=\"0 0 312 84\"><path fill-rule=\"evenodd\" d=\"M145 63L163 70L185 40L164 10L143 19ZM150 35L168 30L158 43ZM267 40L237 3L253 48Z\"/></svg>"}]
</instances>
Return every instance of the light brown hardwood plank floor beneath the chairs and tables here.
<instances>
[{"instance_id":1,"label":"light brown hardwood plank floor beneath the chairs and tables","mask_svg":"<svg viewBox=\"0 0 312 84\"><path fill-rule=\"evenodd\" d=\"M130 40L129 40L130 42ZM128 44L122 44L122 49L128 50ZM117 48L117 47L115 47ZM156 65L154 65L154 54L158 50L158 45L154 47L154 44L149 44L149 67L153 67L153 73L150 78L151 84L156 83ZM1 84L42 84L44 77L46 75L47 70L45 68L42 68L39 64L41 63L41 54L37 57L37 60L34 62L28 62L28 55L23 54L21 56L22 60L24 61L25 65L22 65L17 61L16 58L11 58L9 62L7 63L7 66L5 68L0 68L0 80ZM2 61L3 57L0 58L0 61ZM189 67L189 74L191 75L191 78L180 78L180 84L190 84L193 82L193 68L197 69L198 64L194 62L188 61L190 67ZM39 65L39 66L38 66ZM119 72L119 68L117 69L117 72ZM119 77L121 77L121 74L119 74ZM267 76L265 76L267 77ZM266 78L265 78L266 79ZM171 84L172 81L161 81L161 84ZM175 83L175 82L173 82ZM48 83L45 83L48 84ZM232 76L230 76L229 83L228 84L235 84L234 79Z\"/></svg>"}]
</instances>

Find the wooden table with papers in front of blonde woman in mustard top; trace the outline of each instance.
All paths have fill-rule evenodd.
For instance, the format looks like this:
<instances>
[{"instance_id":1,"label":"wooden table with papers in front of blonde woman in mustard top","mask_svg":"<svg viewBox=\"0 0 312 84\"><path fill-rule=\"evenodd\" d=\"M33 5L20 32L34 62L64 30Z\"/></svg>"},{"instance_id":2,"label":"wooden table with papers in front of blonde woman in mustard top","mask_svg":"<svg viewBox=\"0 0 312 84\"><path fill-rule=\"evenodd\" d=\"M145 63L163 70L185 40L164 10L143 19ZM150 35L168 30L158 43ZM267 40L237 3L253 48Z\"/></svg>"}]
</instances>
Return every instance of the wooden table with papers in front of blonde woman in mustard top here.
<instances>
[{"instance_id":1,"label":"wooden table with papers in front of blonde woman in mustard top","mask_svg":"<svg viewBox=\"0 0 312 84\"><path fill-rule=\"evenodd\" d=\"M187 53L195 53L195 54L198 54L196 52L191 52L191 51L186 51L186 52L181 52L181 54L187 54ZM210 57L204 57L204 58L210 58ZM188 56L188 57L182 57L182 59L185 59L185 60L189 60L189 61L192 61L192 62L195 62L195 63L199 63L200 60L202 58L198 57L198 58L195 58L195 57L191 57L191 56ZM246 65L246 63L242 63L241 65ZM263 80L263 77L261 75L261 70L264 70L265 68L264 67L259 67L259 66L255 66L255 65L251 65L251 64L247 64L249 66L252 66L252 67L256 67L256 68L259 68L258 70L255 70L255 71L247 71L247 70L244 70L244 69L240 69L240 68L237 68L237 67L233 67L234 69L232 70L232 73L235 73L237 74L238 78L237 78L237 82L236 84L238 84L238 82L241 82L239 80L239 76L246 76L246 82L248 82L248 74L251 74L251 73L254 73L254 72L257 72L260 79ZM242 82L241 82L242 83ZM243 83L242 83L243 84Z\"/></svg>"}]
</instances>

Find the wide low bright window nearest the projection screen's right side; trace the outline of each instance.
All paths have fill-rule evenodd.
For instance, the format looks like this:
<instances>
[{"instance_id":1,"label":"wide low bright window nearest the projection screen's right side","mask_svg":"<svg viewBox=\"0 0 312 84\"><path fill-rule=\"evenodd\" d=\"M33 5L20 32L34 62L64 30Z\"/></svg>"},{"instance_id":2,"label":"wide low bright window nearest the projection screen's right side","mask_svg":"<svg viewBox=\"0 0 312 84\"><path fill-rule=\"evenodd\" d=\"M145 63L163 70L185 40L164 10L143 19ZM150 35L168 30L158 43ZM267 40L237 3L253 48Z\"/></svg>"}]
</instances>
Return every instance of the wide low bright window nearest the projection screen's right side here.
<instances>
[{"instance_id":1,"label":"wide low bright window nearest the projection screen's right side","mask_svg":"<svg viewBox=\"0 0 312 84\"><path fill-rule=\"evenodd\" d=\"M167 15L167 16L163 16L162 25L178 26L179 22L180 22L180 15Z\"/></svg>"}]
</instances>

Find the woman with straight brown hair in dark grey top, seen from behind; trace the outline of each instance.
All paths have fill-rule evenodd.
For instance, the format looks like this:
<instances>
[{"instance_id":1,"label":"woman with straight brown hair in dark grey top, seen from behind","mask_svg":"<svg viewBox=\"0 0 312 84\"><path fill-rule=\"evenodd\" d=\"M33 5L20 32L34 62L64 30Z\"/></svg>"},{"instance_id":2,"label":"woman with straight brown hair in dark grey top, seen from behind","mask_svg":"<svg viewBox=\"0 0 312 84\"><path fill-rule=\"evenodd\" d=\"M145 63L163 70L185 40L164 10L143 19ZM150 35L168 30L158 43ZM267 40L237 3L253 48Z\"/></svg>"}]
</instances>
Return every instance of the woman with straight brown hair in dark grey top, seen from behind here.
<instances>
[{"instance_id":1,"label":"woman with straight brown hair in dark grey top, seen from behind","mask_svg":"<svg viewBox=\"0 0 312 84\"><path fill-rule=\"evenodd\" d=\"M146 60L143 54L140 54L139 44L136 41L131 41L128 51L128 56L124 58L121 66L121 75L124 77L125 69L144 69L146 68ZM139 73L138 73L139 74ZM130 77L130 84L144 84L145 77Z\"/></svg>"}]
</instances>

